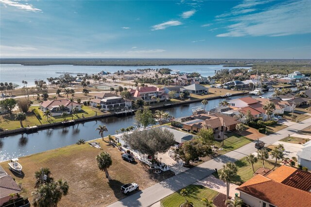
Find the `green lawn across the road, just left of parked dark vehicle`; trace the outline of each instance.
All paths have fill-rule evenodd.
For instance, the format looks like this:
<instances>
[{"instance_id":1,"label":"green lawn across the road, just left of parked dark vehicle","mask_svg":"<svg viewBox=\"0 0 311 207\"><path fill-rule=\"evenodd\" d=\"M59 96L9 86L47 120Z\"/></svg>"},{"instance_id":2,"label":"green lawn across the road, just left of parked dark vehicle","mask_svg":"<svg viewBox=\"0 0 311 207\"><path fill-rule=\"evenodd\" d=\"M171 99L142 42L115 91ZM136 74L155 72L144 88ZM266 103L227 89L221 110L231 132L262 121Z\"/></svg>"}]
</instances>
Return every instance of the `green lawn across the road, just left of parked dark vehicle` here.
<instances>
[{"instance_id":1,"label":"green lawn across the road, just left of parked dark vehicle","mask_svg":"<svg viewBox=\"0 0 311 207\"><path fill-rule=\"evenodd\" d=\"M228 138L226 138L224 141L224 144L225 144L224 150L217 151L217 153L222 154L222 155L227 153L227 152L230 152L232 150L236 150L236 149L244 146L245 144L252 142L251 139L245 138L245 137L238 135L234 132L227 133L225 135ZM223 144L222 140L215 140L214 141L215 147L220 148L222 146L222 144Z\"/></svg>"}]
</instances>

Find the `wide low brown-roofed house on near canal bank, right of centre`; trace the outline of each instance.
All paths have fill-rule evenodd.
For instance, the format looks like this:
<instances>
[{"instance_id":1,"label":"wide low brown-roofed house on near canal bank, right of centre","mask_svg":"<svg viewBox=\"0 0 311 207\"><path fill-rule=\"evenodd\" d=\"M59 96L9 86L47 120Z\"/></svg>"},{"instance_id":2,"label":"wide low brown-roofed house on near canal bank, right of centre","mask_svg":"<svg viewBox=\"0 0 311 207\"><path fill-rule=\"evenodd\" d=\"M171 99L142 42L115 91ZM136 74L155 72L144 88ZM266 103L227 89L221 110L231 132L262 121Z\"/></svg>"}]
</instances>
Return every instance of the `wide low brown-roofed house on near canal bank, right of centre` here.
<instances>
[{"instance_id":1,"label":"wide low brown-roofed house on near canal bank, right of centre","mask_svg":"<svg viewBox=\"0 0 311 207\"><path fill-rule=\"evenodd\" d=\"M177 118L172 121L172 126L187 131L199 132L201 128L212 128L215 133L220 131L231 131L240 121L234 117L216 114L199 114L190 117Z\"/></svg>"}]
</instances>

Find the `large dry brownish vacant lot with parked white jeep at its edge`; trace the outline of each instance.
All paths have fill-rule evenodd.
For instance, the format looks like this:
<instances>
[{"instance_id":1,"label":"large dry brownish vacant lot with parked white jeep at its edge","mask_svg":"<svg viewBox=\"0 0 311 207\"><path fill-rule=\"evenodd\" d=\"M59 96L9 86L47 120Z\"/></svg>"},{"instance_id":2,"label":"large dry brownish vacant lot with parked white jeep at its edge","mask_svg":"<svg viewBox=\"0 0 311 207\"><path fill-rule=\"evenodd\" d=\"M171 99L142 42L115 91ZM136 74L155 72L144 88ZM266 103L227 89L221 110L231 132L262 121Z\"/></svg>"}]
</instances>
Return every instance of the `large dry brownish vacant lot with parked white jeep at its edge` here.
<instances>
[{"instance_id":1,"label":"large dry brownish vacant lot with parked white jeep at its edge","mask_svg":"<svg viewBox=\"0 0 311 207\"><path fill-rule=\"evenodd\" d=\"M60 207L96 207L107 206L125 197L120 191L123 184L138 183L139 189L145 189L157 182L173 176L167 171L161 174L152 173L149 166L141 162L128 163L121 159L121 152L111 146L105 139L98 139L102 149L91 147L89 144L70 145L67 147L46 151L43 153L21 157L23 175L13 174L8 170L7 162L0 165L17 182L21 182L26 192L23 195L32 200L34 191L34 173L41 167L48 167L54 179L67 180L69 194L63 196ZM100 171L95 160L96 155L108 152L112 157L112 166L108 169L112 178L107 182L104 172Z\"/></svg>"}]
</instances>

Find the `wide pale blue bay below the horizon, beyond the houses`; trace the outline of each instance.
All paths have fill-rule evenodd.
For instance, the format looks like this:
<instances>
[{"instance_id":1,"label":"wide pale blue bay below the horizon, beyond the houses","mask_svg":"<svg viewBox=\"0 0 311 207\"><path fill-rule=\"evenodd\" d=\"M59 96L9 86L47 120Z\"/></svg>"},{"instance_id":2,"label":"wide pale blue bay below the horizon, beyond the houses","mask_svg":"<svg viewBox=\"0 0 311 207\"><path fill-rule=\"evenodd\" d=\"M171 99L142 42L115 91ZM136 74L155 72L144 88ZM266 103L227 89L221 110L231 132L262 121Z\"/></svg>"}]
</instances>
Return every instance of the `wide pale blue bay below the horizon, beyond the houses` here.
<instances>
[{"instance_id":1,"label":"wide pale blue bay below the horizon, beyond the houses","mask_svg":"<svg viewBox=\"0 0 311 207\"><path fill-rule=\"evenodd\" d=\"M127 71L129 69L159 69L170 68L180 72L199 72L203 76L213 76L215 70L225 69L222 65L204 65L204 66L73 66L73 65L50 65L50 66L23 66L15 64L0 64L0 82L15 83L23 86L22 81L27 81L28 86L35 86L35 80L46 81L50 77L58 77L61 74L56 72L88 73L96 74L102 70L116 72L118 70ZM239 67L235 67L239 68ZM251 67L243 67L250 69ZM234 69L234 68L229 68ZM240 69L242 69L240 67ZM73 74L74 75L74 74Z\"/></svg>"}]
</instances>

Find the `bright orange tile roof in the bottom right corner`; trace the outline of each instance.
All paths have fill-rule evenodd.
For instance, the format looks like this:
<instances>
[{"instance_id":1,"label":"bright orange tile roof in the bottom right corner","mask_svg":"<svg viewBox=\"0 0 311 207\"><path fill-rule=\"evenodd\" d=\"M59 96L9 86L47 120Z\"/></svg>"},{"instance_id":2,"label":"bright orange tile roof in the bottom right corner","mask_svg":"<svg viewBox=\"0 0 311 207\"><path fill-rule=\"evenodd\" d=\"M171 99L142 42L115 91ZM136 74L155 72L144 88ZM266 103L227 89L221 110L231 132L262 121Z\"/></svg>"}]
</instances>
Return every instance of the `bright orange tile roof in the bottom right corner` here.
<instances>
[{"instance_id":1,"label":"bright orange tile roof in the bottom right corner","mask_svg":"<svg viewBox=\"0 0 311 207\"><path fill-rule=\"evenodd\" d=\"M237 188L237 190L270 203L276 207L307 207L311 204L311 192L299 190L260 174Z\"/></svg>"}]
</instances>

